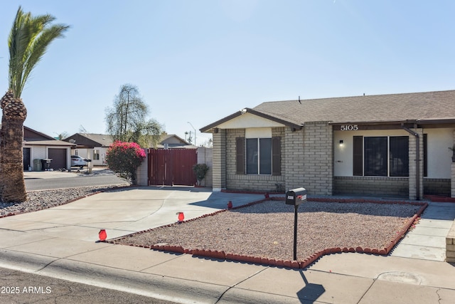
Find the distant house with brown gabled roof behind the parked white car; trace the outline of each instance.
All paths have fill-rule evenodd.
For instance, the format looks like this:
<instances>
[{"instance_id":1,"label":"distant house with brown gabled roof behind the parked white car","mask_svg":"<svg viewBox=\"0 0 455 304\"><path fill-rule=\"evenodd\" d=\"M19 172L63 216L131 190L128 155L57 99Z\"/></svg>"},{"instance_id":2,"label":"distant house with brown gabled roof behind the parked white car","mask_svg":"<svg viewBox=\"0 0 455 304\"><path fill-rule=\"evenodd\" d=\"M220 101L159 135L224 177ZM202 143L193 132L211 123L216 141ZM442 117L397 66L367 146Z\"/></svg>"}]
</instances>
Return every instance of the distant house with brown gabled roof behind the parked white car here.
<instances>
[{"instance_id":1,"label":"distant house with brown gabled roof behind the parked white car","mask_svg":"<svg viewBox=\"0 0 455 304\"><path fill-rule=\"evenodd\" d=\"M75 133L64 141L75 144L72 155L92 159L94 166L106 165L106 152L113 142L110 135L92 133Z\"/></svg>"}]
</instances>

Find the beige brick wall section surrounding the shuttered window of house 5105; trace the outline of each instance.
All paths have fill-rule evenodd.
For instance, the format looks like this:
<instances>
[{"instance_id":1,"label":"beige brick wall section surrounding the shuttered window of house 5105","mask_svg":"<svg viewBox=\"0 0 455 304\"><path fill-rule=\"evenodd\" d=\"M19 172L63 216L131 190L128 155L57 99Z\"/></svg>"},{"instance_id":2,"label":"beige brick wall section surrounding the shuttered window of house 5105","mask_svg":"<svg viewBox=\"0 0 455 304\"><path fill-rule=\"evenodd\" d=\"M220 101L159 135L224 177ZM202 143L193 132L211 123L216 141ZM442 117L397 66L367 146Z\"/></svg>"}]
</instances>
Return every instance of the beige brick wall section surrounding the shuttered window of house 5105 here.
<instances>
[{"instance_id":1,"label":"beige brick wall section surrounding the shuttered window of house 5105","mask_svg":"<svg viewBox=\"0 0 455 304\"><path fill-rule=\"evenodd\" d=\"M332 194L333 139L327 122L311 122L302 130L272 128L272 137L282 138L282 174L276 176L237 174L237 137L245 137L245 129L219 130L213 134L214 189L274 192L305 187L309 194Z\"/></svg>"}]
</instances>

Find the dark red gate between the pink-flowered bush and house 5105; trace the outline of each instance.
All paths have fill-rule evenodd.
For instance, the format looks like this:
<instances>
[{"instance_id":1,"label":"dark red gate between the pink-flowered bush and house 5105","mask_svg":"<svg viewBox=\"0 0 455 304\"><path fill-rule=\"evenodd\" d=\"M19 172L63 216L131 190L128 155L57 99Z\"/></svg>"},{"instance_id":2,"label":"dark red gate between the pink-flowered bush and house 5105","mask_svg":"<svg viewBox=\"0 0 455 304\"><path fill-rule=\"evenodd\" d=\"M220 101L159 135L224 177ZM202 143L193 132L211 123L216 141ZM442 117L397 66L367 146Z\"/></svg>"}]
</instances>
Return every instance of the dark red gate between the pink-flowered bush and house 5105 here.
<instances>
[{"instance_id":1,"label":"dark red gate between the pink-flowered bush and house 5105","mask_svg":"<svg viewBox=\"0 0 455 304\"><path fill-rule=\"evenodd\" d=\"M194 186L196 149L149 149L149 185Z\"/></svg>"}]
</instances>

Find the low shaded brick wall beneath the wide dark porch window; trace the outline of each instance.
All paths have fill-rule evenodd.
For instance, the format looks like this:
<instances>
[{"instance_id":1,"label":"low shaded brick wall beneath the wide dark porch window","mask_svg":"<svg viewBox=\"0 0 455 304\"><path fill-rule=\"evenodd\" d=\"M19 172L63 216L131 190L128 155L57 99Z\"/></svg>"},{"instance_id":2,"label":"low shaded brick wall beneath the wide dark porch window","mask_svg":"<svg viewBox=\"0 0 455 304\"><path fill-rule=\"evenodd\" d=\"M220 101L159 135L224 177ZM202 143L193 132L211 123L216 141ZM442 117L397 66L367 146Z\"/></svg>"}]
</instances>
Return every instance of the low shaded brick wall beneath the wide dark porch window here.
<instances>
[{"instance_id":1,"label":"low shaded brick wall beneath the wide dark porch window","mask_svg":"<svg viewBox=\"0 0 455 304\"><path fill-rule=\"evenodd\" d=\"M408 195L407 177L335 177L333 194L358 195Z\"/></svg>"}]
</instances>

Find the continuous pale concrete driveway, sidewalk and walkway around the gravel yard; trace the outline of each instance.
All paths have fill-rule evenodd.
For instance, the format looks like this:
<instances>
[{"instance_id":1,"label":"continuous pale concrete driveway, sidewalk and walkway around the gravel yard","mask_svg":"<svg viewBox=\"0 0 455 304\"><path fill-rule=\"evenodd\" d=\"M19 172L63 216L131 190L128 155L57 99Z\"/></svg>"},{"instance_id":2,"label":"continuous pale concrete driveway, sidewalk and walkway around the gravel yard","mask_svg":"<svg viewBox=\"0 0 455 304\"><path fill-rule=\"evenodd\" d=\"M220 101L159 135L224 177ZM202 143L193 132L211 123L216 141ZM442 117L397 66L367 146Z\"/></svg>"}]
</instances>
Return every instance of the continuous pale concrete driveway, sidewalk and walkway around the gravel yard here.
<instances>
[{"instance_id":1,"label":"continuous pale concrete driveway, sidewalk and walkway around the gravel yard","mask_svg":"<svg viewBox=\"0 0 455 304\"><path fill-rule=\"evenodd\" d=\"M434 231L427 224L417 225L412 241L403 239L391 256L338 253L304 270L95 243L100 229L113 239L173 223L178 211L191 219L225 209L228 201L237 206L262 198L141 187L6 217L0 219L0 267L177 303L453 303L455 266L438 261L439 253L417 254L419 246L439 246L429 243ZM445 227L454 217L455 204L430 203L421 223ZM400 251L417 253L404 257Z\"/></svg>"}]
</instances>

